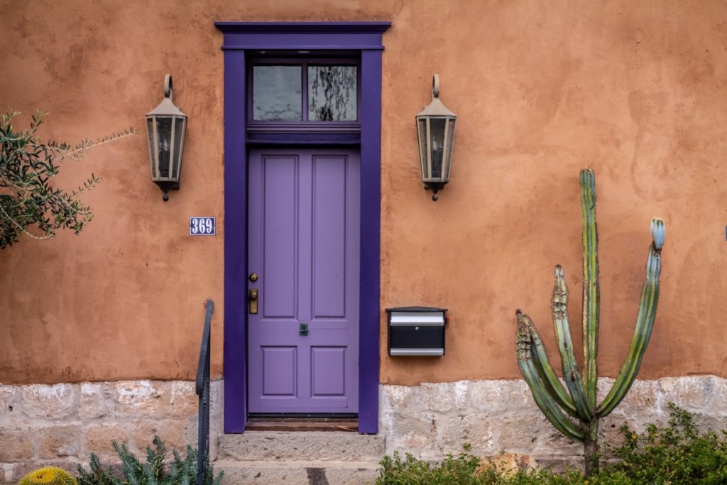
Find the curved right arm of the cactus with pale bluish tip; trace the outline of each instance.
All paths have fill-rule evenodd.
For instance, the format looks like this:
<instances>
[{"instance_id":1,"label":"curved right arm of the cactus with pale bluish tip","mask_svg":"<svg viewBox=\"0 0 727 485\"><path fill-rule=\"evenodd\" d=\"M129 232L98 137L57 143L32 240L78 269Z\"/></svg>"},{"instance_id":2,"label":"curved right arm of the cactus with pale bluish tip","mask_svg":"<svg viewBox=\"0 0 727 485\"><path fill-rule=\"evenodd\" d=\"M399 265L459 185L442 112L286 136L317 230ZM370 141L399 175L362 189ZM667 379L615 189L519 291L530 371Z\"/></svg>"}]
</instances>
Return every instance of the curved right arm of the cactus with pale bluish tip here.
<instances>
[{"instance_id":1,"label":"curved right arm of the cactus with pale bluish tip","mask_svg":"<svg viewBox=\"0 0 727 485\"><path fill-rule=\"evenodd\" d=\"M599 417L607 416L626 396L636 378L636 374L638 374L641 359L646 352L648 340L651 338L651 330L654 329L656 306L659 302L659 273L662 270L661 252L664 245L664 221L661 219L651 221L651 236L654 241L648 251L646 281L644 281L641 288L641 300L629 353L619 371L619 375L616 377L614 386L608 391L601 405L598 406Z\"/></svg>"}]
</instances>

